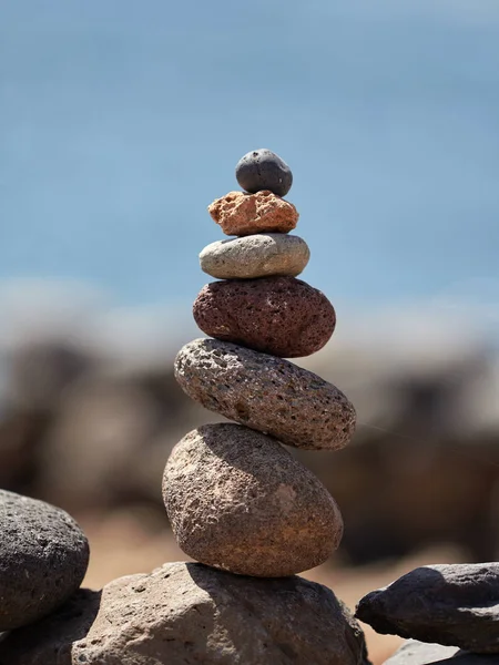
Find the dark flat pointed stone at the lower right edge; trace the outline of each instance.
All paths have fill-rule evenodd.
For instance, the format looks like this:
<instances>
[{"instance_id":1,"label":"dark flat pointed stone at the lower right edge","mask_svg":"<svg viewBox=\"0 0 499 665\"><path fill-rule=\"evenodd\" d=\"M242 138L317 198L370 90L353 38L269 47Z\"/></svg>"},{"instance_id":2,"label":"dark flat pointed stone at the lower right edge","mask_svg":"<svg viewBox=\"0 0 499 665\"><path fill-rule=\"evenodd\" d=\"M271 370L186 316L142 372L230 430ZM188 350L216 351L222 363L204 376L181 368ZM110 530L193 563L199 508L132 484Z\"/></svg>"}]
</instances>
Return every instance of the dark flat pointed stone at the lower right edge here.
<instances>
[{"instance_id":1,"label":"dark flat pointed stone at the lower right edge","mask_svg":"<svg viewBox=\"0 0 499 665\"><path fill-rule=\"evenodd\" d=\"M356 615L378 633L499 653L499 563L418 567L367 594Z\"/></svg>"}]
</instances>

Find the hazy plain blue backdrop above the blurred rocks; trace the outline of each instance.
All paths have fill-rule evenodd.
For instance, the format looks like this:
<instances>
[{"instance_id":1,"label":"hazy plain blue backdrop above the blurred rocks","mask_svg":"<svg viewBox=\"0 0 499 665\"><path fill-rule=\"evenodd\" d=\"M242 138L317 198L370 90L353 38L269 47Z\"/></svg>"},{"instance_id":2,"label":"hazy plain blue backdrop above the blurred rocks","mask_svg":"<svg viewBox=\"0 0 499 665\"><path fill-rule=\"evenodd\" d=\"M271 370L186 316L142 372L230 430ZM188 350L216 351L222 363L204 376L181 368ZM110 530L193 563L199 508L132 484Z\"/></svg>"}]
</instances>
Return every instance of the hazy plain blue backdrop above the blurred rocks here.
<instances>
[{"instance_id":1,"label":"hazy plain blue backdrop above the blurred rocks","mask_svg":"<svg viewBox=\"0 0 499 665\"><path fill-rule=\"evenodd\" d=\"M334 303L499 297L498 30L497 0L3 0L0 282L190 301L269 147Z\"/></svg>"}]
</instances>

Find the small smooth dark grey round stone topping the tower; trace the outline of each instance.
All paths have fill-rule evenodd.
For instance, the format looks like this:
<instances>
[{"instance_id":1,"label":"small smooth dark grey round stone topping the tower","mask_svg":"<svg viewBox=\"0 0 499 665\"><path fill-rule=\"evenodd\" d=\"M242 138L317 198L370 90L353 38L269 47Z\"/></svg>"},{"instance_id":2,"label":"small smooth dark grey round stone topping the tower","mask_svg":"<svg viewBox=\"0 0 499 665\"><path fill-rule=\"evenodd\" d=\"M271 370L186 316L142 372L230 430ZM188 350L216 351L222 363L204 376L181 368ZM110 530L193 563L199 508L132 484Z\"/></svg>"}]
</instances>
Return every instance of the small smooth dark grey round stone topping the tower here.
<instances>
[{"instance_id":1,"label":"small smooth dark grey round stone topping the tower","mask_svg":"<svg viewBox=\"0 0 499 665\"><path fill-rule=\"evenodd\" d=\"M269 190L277 196L285 196L293 184L293 173L286 162L265 147L241 157L236 165L236 178L249 194Z\"/></svg>"}]
</instances>

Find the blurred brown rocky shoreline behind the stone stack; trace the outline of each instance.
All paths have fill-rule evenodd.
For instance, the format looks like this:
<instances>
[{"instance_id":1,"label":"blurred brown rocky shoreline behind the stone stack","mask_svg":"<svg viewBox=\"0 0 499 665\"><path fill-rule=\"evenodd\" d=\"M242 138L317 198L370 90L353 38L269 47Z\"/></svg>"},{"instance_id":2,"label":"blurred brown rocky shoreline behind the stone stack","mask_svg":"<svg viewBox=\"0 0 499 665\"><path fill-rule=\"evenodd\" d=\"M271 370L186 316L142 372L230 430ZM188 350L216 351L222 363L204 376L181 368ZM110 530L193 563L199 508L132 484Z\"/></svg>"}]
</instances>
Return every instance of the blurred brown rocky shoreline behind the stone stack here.
<instances>
[{"instance_id":1,"label":"blurred brown rocky shoreline behind the stone stack","mask_svg":"<svg viewBox=\"0 0 499 665\"><path fill-rule=\"evenodd\" d=\"M222 420L173 378L174 349L193 324L156 317L150 335L145 316L121 313L104 330L71 298L31 301L29 316L3 313L0 488L77 518L128 505L163 513L170 450L197 424ZM376 334L350 317L323 351L297 361L358 412L354 442L339 453L293 451L342 505L338 556L360 564L447 542L470 561L496 559L497 350L454 320L417 313L371 326Z\"/></svg>"}]
</instances>

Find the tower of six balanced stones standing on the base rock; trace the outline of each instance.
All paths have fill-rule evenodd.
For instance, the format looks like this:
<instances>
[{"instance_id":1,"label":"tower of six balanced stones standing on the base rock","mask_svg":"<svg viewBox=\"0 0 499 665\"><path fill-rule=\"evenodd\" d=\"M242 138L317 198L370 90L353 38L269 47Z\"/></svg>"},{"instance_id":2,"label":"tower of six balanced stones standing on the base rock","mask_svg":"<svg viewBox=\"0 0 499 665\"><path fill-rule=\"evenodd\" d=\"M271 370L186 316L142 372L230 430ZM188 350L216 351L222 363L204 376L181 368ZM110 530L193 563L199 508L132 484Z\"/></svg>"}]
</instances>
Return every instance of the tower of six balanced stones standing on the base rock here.
<instances>
[{"instance_id":1,"label":"tower of six balanced stones standing on the base rock","mask_svg":"<svg viewBox=\"0 0 499 665\"><path fill-rule=\"evenodd\" d=\"M175 359L183 390L235 421L207 424L176 444L163 497L173 532L194 560L254 577L283 577L319 565L339 544L335 500L282 443L338 450L350 440L355 410L332 383L284 358L308 356L330 338L333 305L296 276L309 250L288 232L298 213L284 198L289 167L271 151L236 166L246 192L208 211L233 239L200 255L206 285L193 308L211 338Z\"/></svg>"}]
</instances>

